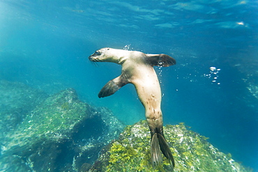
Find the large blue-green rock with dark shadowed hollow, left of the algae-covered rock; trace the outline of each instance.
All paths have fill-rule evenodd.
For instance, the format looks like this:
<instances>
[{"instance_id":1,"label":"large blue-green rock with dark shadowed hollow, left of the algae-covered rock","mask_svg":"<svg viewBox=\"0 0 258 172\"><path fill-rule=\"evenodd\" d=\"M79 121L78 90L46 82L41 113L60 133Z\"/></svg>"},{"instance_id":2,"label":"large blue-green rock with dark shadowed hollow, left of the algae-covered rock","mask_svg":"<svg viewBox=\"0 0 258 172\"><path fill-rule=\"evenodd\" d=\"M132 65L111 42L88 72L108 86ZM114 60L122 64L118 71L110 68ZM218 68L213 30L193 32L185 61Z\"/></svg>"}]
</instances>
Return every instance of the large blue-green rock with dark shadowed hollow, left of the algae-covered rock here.
<instances>
[{"instance_id":1,"label":"large blue-green rock with dark shadowed hollow, left of the algae-covered rock","mask_svg":"<svg viewBox=\"0 0 258 172\"><path fill-rule=\"evenodd\" d=\"M66 89L48 97L6 134L0 171L89 169L123 127L110 111L93 108L75 90Z\"/></svg>"}]
</instances>

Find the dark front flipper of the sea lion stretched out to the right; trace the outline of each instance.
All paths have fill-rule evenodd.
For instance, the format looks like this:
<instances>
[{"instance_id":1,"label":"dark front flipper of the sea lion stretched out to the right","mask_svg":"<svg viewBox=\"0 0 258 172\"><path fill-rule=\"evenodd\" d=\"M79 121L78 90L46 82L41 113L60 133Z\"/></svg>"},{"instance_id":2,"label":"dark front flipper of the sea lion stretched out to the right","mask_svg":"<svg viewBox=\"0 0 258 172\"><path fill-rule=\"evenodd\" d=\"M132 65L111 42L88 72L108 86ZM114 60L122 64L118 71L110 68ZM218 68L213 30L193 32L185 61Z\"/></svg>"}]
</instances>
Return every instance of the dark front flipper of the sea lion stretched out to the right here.
<instances>
[{"instance_id":1,"label":"dark front flipper of the sea lion stretched out to the right","mask_svg":"<svg viewBox=\"0 0 258 172\"><path fill-rule=\"evenodd\" d=\"M168 67L176 64L176 60L166 54L146 54L146 56L151 65Z\"/></svg>"}]
</instances>

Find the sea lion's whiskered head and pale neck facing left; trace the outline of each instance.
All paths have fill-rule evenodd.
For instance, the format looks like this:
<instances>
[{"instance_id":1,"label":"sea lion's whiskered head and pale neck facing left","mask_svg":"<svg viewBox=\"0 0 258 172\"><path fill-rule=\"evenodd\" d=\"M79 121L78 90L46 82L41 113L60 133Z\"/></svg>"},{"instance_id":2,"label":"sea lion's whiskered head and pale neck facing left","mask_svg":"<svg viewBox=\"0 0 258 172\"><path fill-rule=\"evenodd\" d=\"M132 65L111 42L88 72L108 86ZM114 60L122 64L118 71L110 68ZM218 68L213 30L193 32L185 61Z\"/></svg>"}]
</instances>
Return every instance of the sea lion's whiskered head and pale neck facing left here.
<instances>
[{"instance_id":1,"label":"sea lion's whiskered head and pale neck facing left","mask_svg":"<svg viewBox=\"0 0 258 172\"><path fill-rule=\"evenodd\" d=\"M119 56L120 49L102 48L89 56L89 60L93 62L113 62L120 63L121 56ZM124 50L122 50L124 51Z\"/></svg>"}]
</instances>

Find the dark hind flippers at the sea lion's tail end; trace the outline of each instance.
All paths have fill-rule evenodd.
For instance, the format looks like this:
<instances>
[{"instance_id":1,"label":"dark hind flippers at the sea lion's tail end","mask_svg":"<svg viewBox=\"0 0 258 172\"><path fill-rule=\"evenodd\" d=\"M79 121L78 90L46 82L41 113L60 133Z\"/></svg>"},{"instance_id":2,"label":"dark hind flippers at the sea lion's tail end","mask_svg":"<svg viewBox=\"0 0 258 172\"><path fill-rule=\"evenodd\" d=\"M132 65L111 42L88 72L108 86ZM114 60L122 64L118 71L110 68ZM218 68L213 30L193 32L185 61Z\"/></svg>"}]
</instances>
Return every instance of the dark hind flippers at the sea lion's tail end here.
<instances>
[{"instance_id":1,"label":"dark hind flippers at the sea lion's tail end","mask_svg":"<svg viewBox=\"0 0 258 172\"><path fill-rule=\"evenodd\" d=\"M160 150L163 155L167 157L169 163L172 164L172 168L174 169L174 158L165 137L160 133L155 133L151 139L151 164L153 167L162 163Z\"/></svg>"}]
</instances>

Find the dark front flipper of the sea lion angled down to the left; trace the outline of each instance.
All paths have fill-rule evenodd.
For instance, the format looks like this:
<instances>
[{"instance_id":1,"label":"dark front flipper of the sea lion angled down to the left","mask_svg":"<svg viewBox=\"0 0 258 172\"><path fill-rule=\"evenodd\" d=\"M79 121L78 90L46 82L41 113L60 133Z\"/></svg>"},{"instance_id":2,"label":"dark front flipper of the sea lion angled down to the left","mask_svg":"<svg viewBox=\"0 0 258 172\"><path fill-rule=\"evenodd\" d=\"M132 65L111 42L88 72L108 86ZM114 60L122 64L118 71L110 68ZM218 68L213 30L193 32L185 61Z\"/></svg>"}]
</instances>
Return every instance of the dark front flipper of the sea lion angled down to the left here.
<instances>
[{"instance_id":1,"label":"dark front flipper of the sea lion angled down to the left","mask_svg":"<svg viewBox=\"0 0 258 172\"><path fill-rule=\"evenodd\" d=\"M100 93L98 93L98 97L101 98L112 95L126 84L128 84L128 79L126 79L125 75L122 73L119 77L108 81L107 84L105 84L105 86L103 86L103 88L100 90Z\"/></svg>"}]
</instances>

